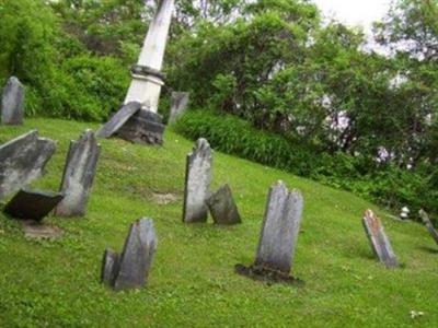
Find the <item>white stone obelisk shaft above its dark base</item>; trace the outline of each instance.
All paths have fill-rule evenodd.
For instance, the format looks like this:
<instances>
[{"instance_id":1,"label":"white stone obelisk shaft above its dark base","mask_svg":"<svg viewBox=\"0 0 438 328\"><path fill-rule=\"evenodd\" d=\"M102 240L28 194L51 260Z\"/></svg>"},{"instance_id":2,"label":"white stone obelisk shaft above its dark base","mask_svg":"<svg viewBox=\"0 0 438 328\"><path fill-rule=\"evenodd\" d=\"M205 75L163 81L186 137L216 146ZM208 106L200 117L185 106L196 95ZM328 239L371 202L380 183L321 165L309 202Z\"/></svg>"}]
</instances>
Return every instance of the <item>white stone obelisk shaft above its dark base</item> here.
<instances>
[{"instance_id":1,"label":"white stone obelisk shaft above its dark base","mask_svg":"<svg viewBox=\"0 0 438 328\"><path fill-rule=\"evenodd\" d=\"M132 81L125 104L139 102L142 109L158 110L161 86L164 85L161 68L163 63L174 0L160 0L155 15L149 25L137 65L132 67Z\"/></svg>"}]
</instances>

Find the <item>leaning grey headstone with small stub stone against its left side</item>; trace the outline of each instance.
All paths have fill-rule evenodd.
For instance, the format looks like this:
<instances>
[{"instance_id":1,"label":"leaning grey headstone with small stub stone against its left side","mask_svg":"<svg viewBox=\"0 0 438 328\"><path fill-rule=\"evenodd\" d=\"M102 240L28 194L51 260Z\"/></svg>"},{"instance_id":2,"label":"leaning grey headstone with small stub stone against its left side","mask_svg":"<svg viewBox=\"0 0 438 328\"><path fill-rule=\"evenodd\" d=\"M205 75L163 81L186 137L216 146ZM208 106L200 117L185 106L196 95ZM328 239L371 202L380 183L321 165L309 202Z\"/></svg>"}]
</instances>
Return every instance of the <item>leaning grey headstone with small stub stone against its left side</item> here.
<instances>
[{"instance_id":1,"label":"leaning grey headstone with small stub stone against its left side","mask_svg":"<svg viewBox=\"0 0 438 328\"><path fill-rule=\"evenodd\" d=\"M106 249L102 262L102 282L116 291L138 289L146 284L157 249L151 219L131 224L122 255Z\"/></svg>"}]
</instances>

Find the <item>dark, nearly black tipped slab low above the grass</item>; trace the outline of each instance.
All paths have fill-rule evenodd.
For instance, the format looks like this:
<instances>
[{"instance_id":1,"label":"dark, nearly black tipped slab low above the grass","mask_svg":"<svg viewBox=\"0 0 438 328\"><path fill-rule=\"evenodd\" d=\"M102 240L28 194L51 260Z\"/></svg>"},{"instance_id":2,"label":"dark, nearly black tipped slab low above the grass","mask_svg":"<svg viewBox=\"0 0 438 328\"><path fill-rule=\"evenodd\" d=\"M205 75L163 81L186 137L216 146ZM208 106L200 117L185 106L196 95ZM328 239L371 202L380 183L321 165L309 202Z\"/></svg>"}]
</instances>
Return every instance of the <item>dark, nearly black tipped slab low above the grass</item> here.
<instances>
[{"instance_id":1,"label":"dark, nearly black tipped slab low above the grass","mask_svg":"<svg viewBox=\"0 0 438 328\"><path fill-rule=\"evenodd\" d=\"M20 190L5 206L14 219L42 221L62 200L61 194Z\"/></svg>"}]
</instances>

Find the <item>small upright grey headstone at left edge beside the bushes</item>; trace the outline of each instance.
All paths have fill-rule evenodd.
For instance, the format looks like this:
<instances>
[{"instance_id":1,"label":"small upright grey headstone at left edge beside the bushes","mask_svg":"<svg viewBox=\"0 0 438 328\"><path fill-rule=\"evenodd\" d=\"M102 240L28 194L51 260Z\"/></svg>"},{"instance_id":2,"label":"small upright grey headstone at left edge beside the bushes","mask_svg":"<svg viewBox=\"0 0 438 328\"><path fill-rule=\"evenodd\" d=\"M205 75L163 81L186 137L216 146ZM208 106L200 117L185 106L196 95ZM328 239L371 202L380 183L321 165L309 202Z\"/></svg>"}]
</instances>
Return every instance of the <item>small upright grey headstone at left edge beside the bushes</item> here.
<instances>
[{"instance_id":1,"label":"small upright grey headstone at left edge beside the bushes","mask_svg":"<svg viewBox=\"0 0 438 328\"><path fill-rule=\"evenodd\" d=\"M1 98L1 122L22 125L24 116L24 86L15 77L9 78Z\"/></svg>"}]
</instances>

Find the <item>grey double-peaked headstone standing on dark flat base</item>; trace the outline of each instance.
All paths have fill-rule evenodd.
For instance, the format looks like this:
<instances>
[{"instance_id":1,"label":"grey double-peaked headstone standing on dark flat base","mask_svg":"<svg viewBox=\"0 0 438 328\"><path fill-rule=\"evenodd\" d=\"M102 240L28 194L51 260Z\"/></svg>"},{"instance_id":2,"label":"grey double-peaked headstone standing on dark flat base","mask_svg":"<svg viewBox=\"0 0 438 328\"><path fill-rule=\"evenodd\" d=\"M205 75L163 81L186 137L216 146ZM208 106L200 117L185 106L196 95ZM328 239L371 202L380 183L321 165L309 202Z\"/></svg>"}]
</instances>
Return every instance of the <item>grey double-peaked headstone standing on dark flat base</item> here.
<instances>
[{"instance_id":1,"label":"grey double-peaked headstone standing on dark flat base","mask_svg":"<svg viewBox=\"0 0 438 328\"><path fill-rule=\"evenodd\" d=\"M302 218L303 199L283 181L269 189L263 227L253 266L237 265L238 273L269 282L300 283L290 277Z\"/></svg>"}]
</instances>

